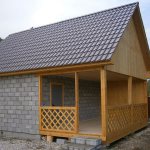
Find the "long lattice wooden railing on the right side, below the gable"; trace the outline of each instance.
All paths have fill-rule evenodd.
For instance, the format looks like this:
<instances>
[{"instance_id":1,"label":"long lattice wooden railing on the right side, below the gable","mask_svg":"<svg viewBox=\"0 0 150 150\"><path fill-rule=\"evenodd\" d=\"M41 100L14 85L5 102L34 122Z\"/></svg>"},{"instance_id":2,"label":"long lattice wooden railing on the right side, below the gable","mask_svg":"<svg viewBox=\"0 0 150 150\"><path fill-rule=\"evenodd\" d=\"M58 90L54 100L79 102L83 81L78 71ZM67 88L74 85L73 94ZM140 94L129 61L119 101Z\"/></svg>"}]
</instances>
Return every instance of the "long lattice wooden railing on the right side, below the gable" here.
<instances>
[{"instance_id":1,"label":"long lattice wooden railing on the right side, below the gable","mask_svg":"<svg viewBox=\"0 0 150 150\"><path fill-rule=\"evenodd\" d=\"M147 124L147 104L109 106L107 141L112 142Z\"/></svg>"}]
</instances>

